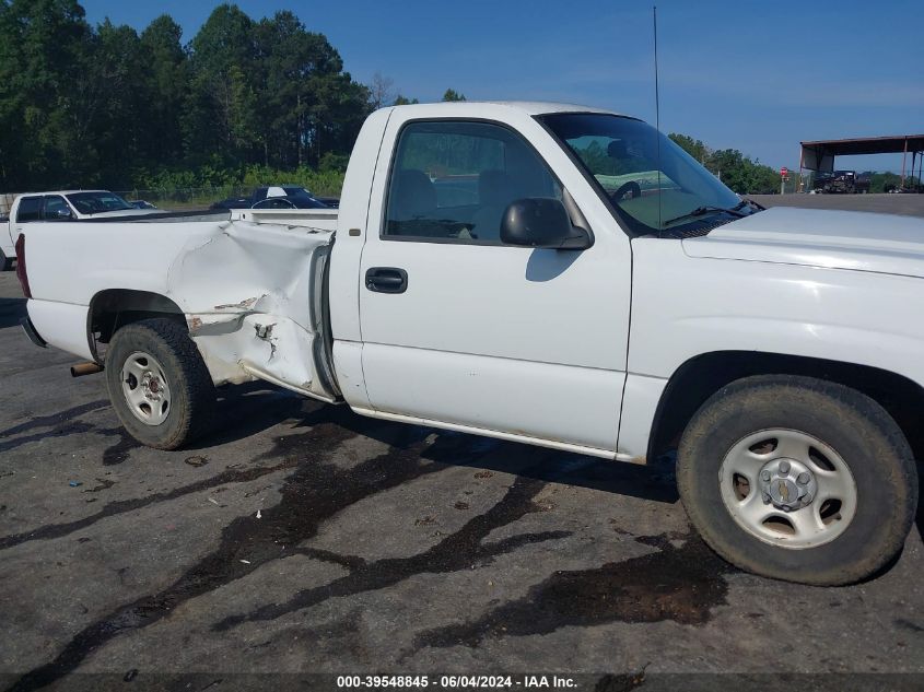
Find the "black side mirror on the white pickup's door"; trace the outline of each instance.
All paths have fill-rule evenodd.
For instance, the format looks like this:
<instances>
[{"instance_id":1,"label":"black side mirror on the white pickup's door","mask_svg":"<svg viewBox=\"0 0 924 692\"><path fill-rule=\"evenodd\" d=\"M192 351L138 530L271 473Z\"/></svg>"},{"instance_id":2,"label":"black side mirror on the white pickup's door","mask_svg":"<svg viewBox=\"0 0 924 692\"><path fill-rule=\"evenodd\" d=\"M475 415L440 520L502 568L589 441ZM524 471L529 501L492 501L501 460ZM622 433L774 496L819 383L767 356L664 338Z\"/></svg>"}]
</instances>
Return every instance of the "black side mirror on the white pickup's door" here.
<instances>
[{"instance_id":1,"label":"black side mirror on the white pickup's door","mask_svg":"<svg viewBox=\"0 0 924 692\"><path fill-rule=\"evenodd\" d=\"M549 197L511 202L501 219L501 243L555 250L583 250L592 245L587 232L572 225L564 204Z\"/></svg>"}]
</instances>

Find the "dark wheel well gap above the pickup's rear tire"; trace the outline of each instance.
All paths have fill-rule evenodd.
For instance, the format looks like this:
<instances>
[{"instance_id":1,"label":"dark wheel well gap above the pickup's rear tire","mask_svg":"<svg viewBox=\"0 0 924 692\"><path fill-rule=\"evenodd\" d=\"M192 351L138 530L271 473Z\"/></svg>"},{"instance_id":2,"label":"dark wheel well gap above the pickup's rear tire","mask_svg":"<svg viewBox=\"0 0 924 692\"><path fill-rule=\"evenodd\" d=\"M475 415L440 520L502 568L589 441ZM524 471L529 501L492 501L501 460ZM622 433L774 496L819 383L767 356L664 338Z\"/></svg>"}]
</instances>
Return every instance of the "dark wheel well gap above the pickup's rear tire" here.
<instances>
[{"instance_id":1,"label":"dark wheel well gap above the pickup's rear tire","mask_svg":"<svg viewBox=\"0 0 924 692\"><path fill-rule=\"evenodd\" d=\"M159 293L109 289L94 295L86 316L86 333L93 359L97 363L102 362L98 345L108 343L117 329L152 317L167 317L186 328L186 318L179 306Z\"/></svg>"}]
</instances>

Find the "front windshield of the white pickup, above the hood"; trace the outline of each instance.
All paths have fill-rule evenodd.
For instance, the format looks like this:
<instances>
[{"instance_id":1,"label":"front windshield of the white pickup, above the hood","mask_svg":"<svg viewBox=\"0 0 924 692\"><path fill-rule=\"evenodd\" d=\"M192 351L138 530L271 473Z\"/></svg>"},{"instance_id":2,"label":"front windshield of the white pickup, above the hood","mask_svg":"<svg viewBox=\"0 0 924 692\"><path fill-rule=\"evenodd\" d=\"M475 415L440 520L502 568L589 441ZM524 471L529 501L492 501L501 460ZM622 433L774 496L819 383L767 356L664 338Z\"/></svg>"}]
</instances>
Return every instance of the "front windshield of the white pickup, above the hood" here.
<instances>
[{"instance_id":1,"label":"front windshield of the white pickup, above the hood","mask_svg":"<svg viewBox=\"0 0 924 692\"><path fill-rule=\"evenodd\" d=\"M714 226L755 211L641 120L606 114L554 114L541 120L634 233Z\"/></svg>"}]
</instances>

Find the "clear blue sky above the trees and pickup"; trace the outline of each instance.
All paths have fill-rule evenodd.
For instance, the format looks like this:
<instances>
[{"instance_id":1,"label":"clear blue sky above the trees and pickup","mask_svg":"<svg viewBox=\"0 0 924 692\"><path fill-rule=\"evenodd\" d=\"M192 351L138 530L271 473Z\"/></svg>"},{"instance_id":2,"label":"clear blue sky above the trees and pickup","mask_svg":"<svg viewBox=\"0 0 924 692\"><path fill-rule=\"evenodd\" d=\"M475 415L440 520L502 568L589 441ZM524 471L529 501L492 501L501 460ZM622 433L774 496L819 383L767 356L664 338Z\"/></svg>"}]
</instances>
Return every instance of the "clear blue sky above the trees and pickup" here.
<instances>
[{"instance_id":1,"label":"clear blue sky above the trees and pickup","mask_svg":"<svg viewBox=\"0 0 924 692\"><path fill-rule=\"evenodd\" d=\"M139 31L171 14L189 40L212 1L83 0L87 20ZM288 9L327 35L346 69L421 101L526 98L611 108L654 122L652 3L241 0ZM798 166L798 142L924 132L924 1L660 0L665 131ZM910 165L910 161L909 161ZM899 169L901 156L839 159Z\"/></svg>"}]
</instances>

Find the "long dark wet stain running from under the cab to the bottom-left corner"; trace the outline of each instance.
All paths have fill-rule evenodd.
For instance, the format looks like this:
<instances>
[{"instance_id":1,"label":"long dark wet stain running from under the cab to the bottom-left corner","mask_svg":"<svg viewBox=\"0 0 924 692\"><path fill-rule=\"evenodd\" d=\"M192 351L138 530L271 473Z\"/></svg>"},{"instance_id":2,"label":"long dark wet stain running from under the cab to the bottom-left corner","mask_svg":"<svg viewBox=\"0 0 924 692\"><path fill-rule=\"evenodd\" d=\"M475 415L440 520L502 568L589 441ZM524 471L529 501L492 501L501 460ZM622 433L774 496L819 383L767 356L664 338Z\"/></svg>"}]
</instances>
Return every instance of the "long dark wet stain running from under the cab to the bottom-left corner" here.
<instances>
[{"instance_id":1,"label":"long dark wet stain running from under the cab to the bottom-left corner","mask_svg":"<svg viewBox=\"0 0 924 692\"><path fill-rule=\"evenodd\" d=\"M336 410L335 410L336 411ZM338 413L327 414L335 418ZM166 589L115 609L79 632L50 662L26 673L12 690L36 690L74 670L93 650L127 630L145 628L180 603L247 576L266 562L291 553L291 547L316 535L323 521L346 507L401 483L446 468L442 459L465 459L464 437L425 439L432 431L393 426L398 439L389 450L349 469L325 464L325 456L355 436L348 427L318 423L307 432L277 441L258 459L283 456L294 473L285 480L278 505L262 518L238 517L222 531L219 547ZM446 439L447 442L443 442ZM289 456L291 454L295 456ZM425 455L426 459L421 455ZM288 553L283 547L290 547ZM246 563L242 560L246 559Z\"/></svg>"}]
</instances>

